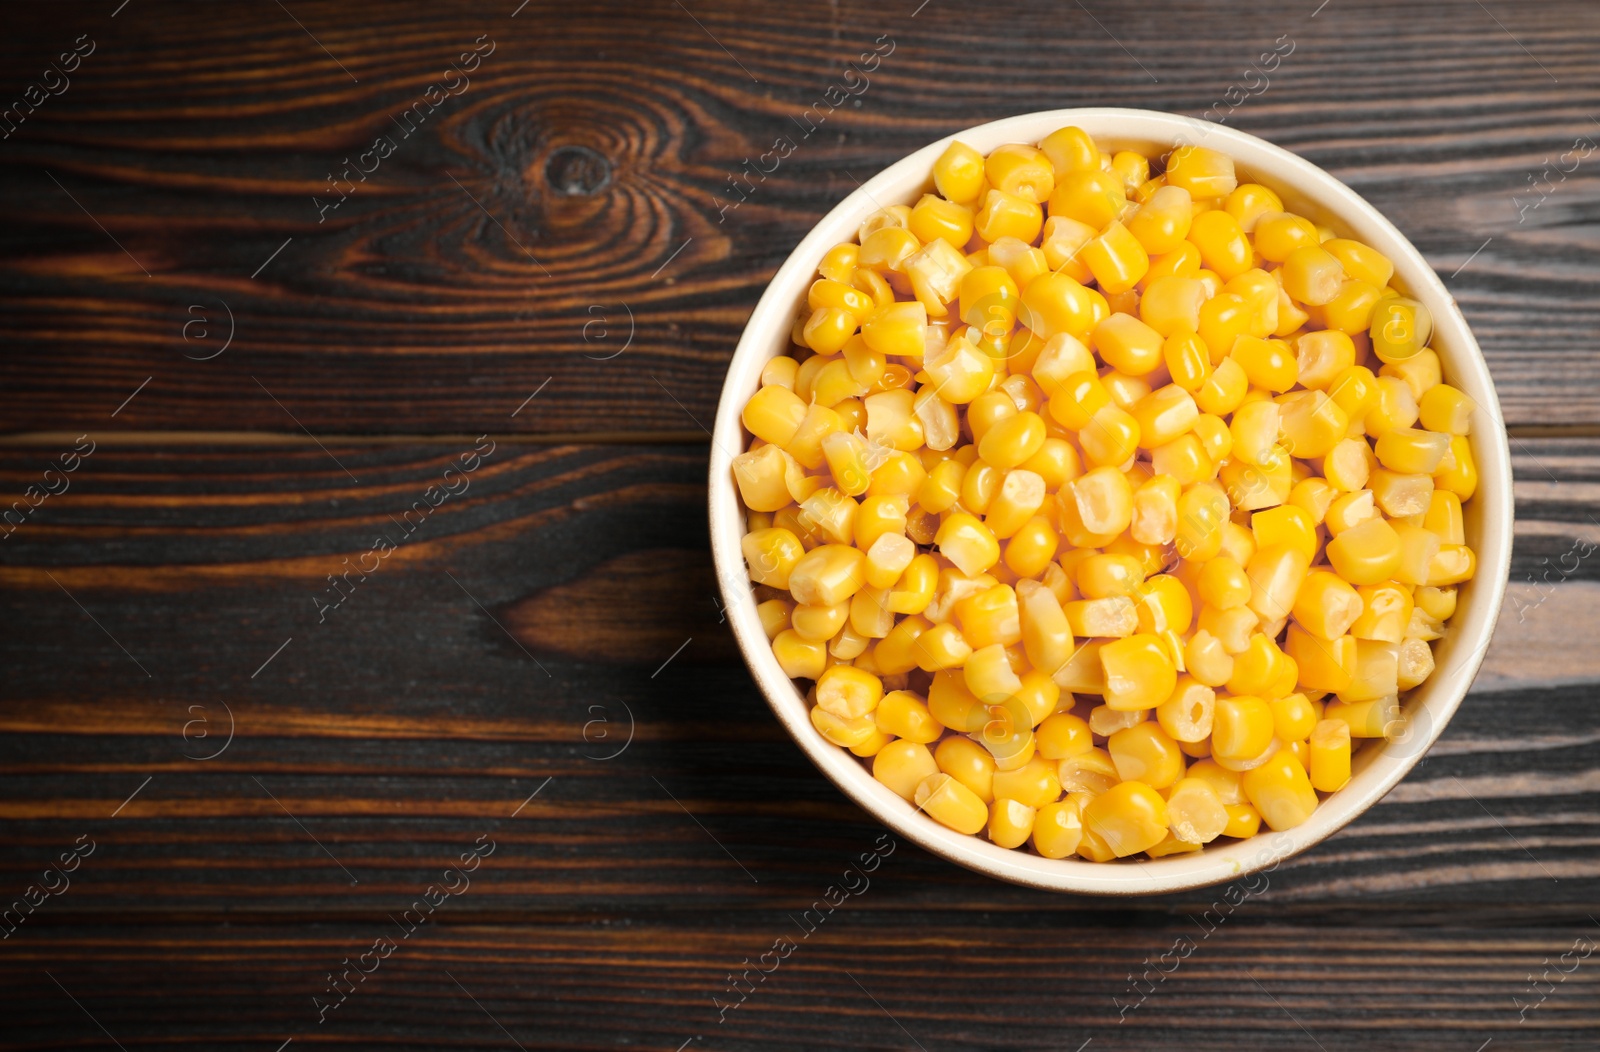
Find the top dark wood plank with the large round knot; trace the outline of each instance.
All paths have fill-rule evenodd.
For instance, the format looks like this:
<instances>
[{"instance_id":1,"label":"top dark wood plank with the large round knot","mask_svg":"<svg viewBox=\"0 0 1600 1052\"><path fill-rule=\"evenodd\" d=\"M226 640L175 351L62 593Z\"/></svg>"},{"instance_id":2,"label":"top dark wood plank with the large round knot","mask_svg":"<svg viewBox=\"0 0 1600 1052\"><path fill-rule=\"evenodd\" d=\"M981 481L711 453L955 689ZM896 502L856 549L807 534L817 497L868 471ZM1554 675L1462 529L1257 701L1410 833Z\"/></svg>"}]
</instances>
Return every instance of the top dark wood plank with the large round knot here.
<instances>
[{"instance_id":1,"label":"top dark wood plank with the large round knot","mask_svg":"<svg viewBox=\"0 0 1600 1052\"><path fill-rule=\"evenodd\" d=\"M1515 37L1480 5L1376 0L1158 0L1102 24L1043 0L1006 19L690 6L699 24L464 0L16 11L0 59L19 77L80 34L98 46L0 158L5 427L698 428L762 288L854 181L1032 109L1203 114L1274 38L1293 53L1229 123L1349 181L1451 275L1510 424L1600 425L1600 182L1562 160L1597 131L1590 5L1502 13ZM470 86L403 134L483 35ZM803 136L797 115L885 35L870 86ZM320 214L381 134L390 158ZM741 176L786 134L803 141L773 174ZM1547 158L1570 171L1541 176Z\"/></svg>"}]
</instances>

